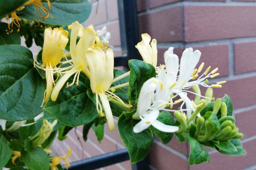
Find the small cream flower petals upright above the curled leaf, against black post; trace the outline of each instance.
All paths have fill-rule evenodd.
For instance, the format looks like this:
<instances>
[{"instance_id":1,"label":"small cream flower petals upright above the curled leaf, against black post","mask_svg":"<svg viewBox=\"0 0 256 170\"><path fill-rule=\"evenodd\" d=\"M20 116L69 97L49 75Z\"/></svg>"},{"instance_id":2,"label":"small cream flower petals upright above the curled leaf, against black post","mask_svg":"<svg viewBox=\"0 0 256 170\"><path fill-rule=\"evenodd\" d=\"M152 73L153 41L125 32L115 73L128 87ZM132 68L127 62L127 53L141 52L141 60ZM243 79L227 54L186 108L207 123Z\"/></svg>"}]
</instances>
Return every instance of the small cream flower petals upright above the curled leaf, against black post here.
<instances>
[{"instance_id":1,"label":"small cream flower petals upright above the curled leaf, against black post","mask_svg":"<svg viewBox=\"0 0 256 170\"><path fill-rule=\"evenodd\" d=\"M138 42L135 47L140 52L143 61L157 67L157 40L153 39L148 34L141 34L142 41ZM149 44L150 43L150 44Z\"/></svg>"}]
</instances>

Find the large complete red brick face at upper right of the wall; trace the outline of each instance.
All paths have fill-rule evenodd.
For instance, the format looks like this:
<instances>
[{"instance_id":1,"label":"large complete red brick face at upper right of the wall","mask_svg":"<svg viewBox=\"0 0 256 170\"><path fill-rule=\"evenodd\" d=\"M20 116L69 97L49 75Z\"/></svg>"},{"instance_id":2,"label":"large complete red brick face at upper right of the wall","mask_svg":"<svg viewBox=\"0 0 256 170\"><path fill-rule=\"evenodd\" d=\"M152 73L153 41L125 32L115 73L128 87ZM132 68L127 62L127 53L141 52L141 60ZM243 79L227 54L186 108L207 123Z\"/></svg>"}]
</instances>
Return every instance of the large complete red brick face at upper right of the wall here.
<instances>
[{"instance_id":1,"label":"large complete red brick face at upper right of the wall","mask_svg":"<svg viewBox=\"0 0 256 170\"><path fill-rule=\"evenodd\" d=\"M184 6L185 41L256 36L256 6Z\"/></svg>"}]
</instances>

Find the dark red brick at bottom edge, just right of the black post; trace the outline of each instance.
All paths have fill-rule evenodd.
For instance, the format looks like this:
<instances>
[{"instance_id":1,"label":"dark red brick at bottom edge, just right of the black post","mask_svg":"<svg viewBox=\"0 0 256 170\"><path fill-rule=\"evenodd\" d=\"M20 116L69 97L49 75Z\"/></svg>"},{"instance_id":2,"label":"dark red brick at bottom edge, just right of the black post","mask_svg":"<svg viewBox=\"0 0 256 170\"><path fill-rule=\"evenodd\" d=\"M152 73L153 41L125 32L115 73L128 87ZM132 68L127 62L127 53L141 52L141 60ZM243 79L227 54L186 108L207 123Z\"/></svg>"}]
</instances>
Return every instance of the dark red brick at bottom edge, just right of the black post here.
<instances>
[{"instance_id":1,"label":"dark red brick at bottom edge, just right of the black post","mask_svg":"<svg viewBox=\"0 0 256 170\"><path fill-rule=\"evenodd\" d=\"M173 170L187 170L187 161L179 156L169 152L160 145L154 143L150 154L150 164L152 164L158 170L169 170L172 167Z\"/></svg>"}]
</instances>

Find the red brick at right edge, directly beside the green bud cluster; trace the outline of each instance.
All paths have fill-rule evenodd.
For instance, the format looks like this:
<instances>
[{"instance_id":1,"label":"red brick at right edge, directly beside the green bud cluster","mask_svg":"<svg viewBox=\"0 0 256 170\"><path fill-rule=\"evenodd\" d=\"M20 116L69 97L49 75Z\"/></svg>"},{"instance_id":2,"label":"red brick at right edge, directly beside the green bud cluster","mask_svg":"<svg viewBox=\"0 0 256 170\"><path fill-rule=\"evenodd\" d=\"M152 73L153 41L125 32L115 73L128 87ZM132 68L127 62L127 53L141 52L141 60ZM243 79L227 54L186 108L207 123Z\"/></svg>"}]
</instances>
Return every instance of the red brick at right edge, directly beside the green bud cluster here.
<instances>
[{"instance_id":1,"label":"red brick at right edge, directly beside the green bud cluster","mask_svg":"<svg viewBox=\"0 0 256 170\"><path fill-rule=\"evenodd\" d=\"M236 126L239 128L241 133L244 133L244 137L256 134L255 113L256 109L236 114Z\"/></svg>"}]
</instances>

